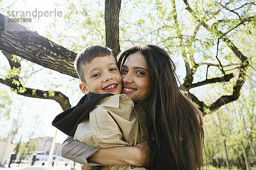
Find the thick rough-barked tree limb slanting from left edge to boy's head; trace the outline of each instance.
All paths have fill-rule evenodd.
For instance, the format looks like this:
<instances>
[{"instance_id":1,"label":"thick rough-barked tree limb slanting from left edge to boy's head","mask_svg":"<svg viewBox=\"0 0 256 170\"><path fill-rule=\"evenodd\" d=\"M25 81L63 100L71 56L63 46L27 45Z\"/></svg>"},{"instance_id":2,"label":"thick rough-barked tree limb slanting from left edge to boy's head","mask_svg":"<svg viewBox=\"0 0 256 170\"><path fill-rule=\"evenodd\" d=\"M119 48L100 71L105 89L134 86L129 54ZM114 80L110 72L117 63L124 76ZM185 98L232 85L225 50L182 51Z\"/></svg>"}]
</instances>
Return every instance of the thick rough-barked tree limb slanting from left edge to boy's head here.
<instances>
[{"instance_id":1,"label":"thick rough-barked tree limb slanting from left edge to boy's head","mask_svg":"<svg viewBox=\"0 0 256 170\"><path fill-rule=\"evenodd\" d=\"M0 14L0 49L46 68L78 78L73 67L76 53L29 31L18 23L8 23ZM46 62L47 61L47 62Z\"/></svg>"}]
</instances>

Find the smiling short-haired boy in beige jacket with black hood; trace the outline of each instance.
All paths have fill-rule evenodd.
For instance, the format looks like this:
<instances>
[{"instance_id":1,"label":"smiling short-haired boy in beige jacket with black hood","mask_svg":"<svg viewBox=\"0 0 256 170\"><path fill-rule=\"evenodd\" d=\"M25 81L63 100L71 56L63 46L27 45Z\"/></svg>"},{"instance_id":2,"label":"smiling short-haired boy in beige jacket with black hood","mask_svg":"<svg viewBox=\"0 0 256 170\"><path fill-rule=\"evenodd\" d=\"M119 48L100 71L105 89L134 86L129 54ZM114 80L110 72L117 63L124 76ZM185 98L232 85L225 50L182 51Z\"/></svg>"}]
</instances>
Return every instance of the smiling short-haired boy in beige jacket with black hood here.
<instances>
[{"instance_id":1,"label":"smiling short-haired boy in beige jacket with black hood","mask_svg":"<svg viewBox=\"0 0 256 170\"><path fill-rule=\"evenodd\" d=\"M122 78L110 48L87 46L77 55L74 67L81 79L79 88L86 95L75 107L56 116L53 126L95 147L135 146L148 139L145 122L138 122L145 112L135 111L137 106L121 94ZM109 167L145 170L131 165Z\"/></svg>"}]
</instances>

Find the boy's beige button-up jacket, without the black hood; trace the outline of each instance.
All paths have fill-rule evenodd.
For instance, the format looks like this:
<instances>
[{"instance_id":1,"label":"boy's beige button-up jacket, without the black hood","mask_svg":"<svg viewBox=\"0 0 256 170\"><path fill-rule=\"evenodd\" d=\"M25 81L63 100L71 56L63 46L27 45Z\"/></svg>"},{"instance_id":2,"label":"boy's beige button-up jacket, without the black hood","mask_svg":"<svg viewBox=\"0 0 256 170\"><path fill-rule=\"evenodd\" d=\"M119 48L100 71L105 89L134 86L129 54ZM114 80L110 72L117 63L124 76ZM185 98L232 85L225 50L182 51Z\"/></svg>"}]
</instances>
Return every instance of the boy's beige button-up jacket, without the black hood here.
<instances>
[{"instance_id":1,"label":"boy's beige button-up jacket, without the black hood","mask_svg":"<svg viewBox=\"0 0 256 170\"><path fill-rule=\"evenodd\" d=\"M81 122L74 139L95 147L135 146L148 140L145 111L125 94L102 99ZM111 170L145 170L131 165L111 165Z\"/></svg>"}]
</instances>

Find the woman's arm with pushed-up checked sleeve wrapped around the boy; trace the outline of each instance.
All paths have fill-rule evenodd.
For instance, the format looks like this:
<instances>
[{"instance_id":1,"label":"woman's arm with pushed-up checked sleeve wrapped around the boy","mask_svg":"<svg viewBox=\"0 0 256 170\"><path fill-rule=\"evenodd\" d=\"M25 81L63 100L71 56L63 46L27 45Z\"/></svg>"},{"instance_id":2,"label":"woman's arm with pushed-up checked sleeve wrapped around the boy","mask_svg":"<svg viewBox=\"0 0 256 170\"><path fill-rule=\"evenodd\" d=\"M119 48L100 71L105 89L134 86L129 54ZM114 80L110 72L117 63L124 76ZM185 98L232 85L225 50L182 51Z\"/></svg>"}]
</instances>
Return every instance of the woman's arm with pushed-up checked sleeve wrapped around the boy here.
<instances>
[{"instance_id":1,"label":"woman's arm with pushed-up checked sleeve wrapped around the boy","mask_svg":"<svg viewBox=\"0 0 256 170\"><path fill-rule=\"evenodd\" d=\"M93 147L69 136L62 144L61 156L81 164L90 165L125 165L146 166L149 164L151 148L148 142L136 147ZM94 163L90 163L94 162Z\"/></svg>"}]
</instances>

